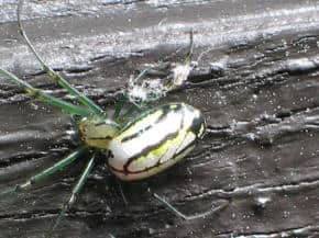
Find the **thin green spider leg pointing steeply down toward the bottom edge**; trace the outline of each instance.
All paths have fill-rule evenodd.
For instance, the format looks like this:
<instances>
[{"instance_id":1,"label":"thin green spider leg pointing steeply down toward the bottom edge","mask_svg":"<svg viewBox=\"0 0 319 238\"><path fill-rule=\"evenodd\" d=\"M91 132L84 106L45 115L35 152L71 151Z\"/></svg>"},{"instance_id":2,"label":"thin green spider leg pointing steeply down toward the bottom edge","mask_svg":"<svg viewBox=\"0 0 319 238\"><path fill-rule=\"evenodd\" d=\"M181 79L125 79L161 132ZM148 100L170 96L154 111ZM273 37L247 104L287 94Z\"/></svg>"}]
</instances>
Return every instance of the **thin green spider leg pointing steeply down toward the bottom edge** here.
<instances>
[{"instance_id":1,"label":"thin green spider leg pointing steeply down toward the bottom edge","mask_svg":"<svg viewBox=\"0 0 319 238\"><path fill-rule=\"evenodd\" d=\"M92 168L95 165L95 156L92 156L90 158L90 160L88 161L84 172L81 173L79 180L77 181L76 185L73 188L72 191L72 195L69 197L69 200L65 203L65 205L63 206L61 213L58 214L58 217L56 218L53 227L50 229L48 231L48 237L52 236L53 231L55 230L55 228L58 226L58 224L61 223L61 220L63 219L63 217L65 216L66 212L74 205L74 203L76 202L77 196L79 195L82 186L85 185L85 182L87 181L87 178L89 175L89 173L91 172Z\"/></svg>"}]
</instances>

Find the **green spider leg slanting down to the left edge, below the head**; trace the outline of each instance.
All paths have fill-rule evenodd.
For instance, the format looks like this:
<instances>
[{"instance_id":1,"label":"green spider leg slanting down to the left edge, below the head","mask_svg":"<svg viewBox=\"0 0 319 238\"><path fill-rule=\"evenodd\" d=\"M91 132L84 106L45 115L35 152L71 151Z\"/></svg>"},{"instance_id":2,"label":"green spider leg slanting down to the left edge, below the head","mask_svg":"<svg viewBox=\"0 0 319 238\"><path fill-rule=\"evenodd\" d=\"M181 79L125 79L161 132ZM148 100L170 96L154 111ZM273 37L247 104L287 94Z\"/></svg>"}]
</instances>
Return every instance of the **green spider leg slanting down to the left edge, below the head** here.
<instances>
[{"instance_id":1,"label":"green spider leg slanting down to the left edge, below the head","mask_svg":"<svg viewBox=\"0 0 319 238\"><path fill-rule=\"evenodd\" d=\"M59 160L58 162L54 163L52 167L41 171L40 173L31 177L26 182L16 184L13 188L10 188L3 192L0 192L0 196L10 195L14 193L19 193L21 191L28 190L33 185L42 182L47 177L54 174L57 171L62 171L70 166L80 155L82 155L87 149L85 147L80 147L64 159Z\"/></svg>"}]
</instances>

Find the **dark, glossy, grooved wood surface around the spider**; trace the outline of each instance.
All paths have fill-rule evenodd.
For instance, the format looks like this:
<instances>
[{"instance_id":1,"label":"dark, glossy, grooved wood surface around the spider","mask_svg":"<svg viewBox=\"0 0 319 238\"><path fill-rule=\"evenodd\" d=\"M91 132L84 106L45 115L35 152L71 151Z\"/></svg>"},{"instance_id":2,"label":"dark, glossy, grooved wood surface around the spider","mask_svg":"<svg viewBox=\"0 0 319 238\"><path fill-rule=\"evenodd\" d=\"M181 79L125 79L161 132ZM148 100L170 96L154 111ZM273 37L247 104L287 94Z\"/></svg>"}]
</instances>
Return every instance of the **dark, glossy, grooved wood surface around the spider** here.
<instances>
[{"instance_id":1,"label":"dark, glossy, grooved wood surface around the spider","mask_svg":"<svg viewBox=\"0 0 319 238\"><path fill-rule=\"evenodd\" d=\"M88 3L88 4L86 4ZM16 33L15 2L0 3L0 66L69 100L48 81ZM316 1L46 1L29 3L25 27L56 70L103 107L145 64L180 60L194 30L184 101L207 134L177 167L122 183L102 159L57 237L316 237L319 192L319 7ZM2 18L3 16L3 18ZM162 103L162 102L161 102ZM75 145L70 121L0 79L0 188L52 165ZM0 237L41 237L67 200L84 161L32 192L0 200ZM230 205L184 222L180 211Z\"/></svg>"}]
</instances>

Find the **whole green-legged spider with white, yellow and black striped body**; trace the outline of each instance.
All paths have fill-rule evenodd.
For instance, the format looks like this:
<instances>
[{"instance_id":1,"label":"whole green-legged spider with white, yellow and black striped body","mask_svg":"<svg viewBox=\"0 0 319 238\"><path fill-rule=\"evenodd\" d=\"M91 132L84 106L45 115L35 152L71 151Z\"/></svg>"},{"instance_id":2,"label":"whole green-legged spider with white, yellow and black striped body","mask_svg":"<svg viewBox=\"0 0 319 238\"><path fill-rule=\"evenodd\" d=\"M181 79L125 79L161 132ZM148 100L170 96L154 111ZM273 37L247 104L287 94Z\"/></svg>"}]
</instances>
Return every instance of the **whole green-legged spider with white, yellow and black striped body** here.
<instances>
[{"instance_id":1,"label":"whole green-legged spider with white, yellow and black striped body","mask_svg":"<svg viewBox=\"0 0 319 238\"><path fill-rule=\"evenodd\" d=\"M61 109L69 115L75 115L75 126L79 134L80 146L58 162L28 179L26 182L0 192L0 196L29 190L55 172L70 167L81 155L90 155L84 171L72 190L69 199L62 207L59 215L52 226L51 231L53 231L66 212L76 202L88 175L92 171L97 151L101 150L105 152L108 168L120 180L146 179L177 163L191 151L205 134L205 120L199 110L186 103L169 103L146 110L128 122L128 120L123 121L119 118L123 117L120 116L123 107L121 102L117 103L113 116L108 117L103 109L80 93L44 63L23 29L21 22L22 7L23 0L18 5L18 26L28 47L34 54L43 70L48 73L50 78L73 95L80 105L46 94L4 69L0 68L0 75L20 86L32 98ZM178 67L180 68L180 65ZM135 81L143 78L144 72ZM175 71L173 70L173 72ZM183 80L185 80L185 75L183 77ZM180 80L178 83L182 83ZM129 98L127 95L127 99ZM184 219L204 217L226 206L226 204L222 204L209 212L195 216L186 216L156 193L153 193L153 195Z\"/></svg>"}]
</instances>

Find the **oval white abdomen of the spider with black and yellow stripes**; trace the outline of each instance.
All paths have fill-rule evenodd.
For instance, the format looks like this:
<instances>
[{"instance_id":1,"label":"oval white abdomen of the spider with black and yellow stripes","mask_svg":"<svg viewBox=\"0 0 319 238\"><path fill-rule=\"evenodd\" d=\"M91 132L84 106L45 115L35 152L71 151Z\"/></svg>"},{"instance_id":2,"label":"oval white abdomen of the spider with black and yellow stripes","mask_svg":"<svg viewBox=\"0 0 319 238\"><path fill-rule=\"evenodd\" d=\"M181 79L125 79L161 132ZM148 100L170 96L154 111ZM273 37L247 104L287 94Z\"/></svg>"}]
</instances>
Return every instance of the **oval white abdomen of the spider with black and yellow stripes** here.
<instances>
[{"instance_id":1,"label":"oval white abdomen of the spider with black and yellow stripes","mask_svg":"<svg viewBox=\"0 0 319 238\"><path fill-rule=\"evenodd\" d=\"M110 141L109 167L122 180L151 177L184 158L204 132L200 111L188 104L174 103L150 110Z\"/></svg>"}]
</instances>

